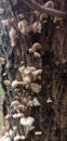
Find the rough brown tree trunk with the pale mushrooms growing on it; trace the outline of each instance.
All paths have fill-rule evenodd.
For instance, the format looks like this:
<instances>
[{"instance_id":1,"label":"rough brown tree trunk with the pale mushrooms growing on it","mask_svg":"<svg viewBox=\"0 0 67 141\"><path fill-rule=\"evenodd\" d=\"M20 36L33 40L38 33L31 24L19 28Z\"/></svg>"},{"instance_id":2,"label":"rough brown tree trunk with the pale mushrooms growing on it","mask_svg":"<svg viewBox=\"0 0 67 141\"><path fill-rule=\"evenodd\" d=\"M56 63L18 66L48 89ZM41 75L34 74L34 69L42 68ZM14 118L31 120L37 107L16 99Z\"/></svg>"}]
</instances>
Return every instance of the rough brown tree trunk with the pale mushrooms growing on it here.
<instances>
[{"instance_id":1,"label":"rough brown tree trunk with the pale mushrooms growing on it","mask_svg":"<svg viewBox=\"0 0 67 141\"><path fill-rule=\"evenodd\" d=\"M38 2L43 4L46 0ZM41 17L41 13L37 17L21 0L0 0L0 8L4 9L0 15L0 54L4 59L1 65L2 136L9 141L66 141L66 17ZM66 0L54 0L54 8L67 11ZM8 18L13 21L4 25L2 21ZM18 27L22 21L24 27ZM40 25L34 28L35 22ZM11 38L12 29L16 34Z\"/></svg>"}]
</instances>

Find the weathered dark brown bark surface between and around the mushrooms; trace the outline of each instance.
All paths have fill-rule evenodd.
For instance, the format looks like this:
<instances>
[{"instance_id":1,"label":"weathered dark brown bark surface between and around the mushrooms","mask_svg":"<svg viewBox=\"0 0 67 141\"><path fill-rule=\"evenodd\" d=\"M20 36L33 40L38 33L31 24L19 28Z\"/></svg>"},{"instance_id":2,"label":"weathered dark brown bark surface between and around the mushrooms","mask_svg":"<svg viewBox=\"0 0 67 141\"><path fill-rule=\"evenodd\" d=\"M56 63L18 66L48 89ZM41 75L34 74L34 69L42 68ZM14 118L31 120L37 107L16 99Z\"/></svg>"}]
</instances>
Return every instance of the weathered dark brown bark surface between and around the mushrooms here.
<instances>
[{"instance_id":1,"label":"weathered dark brown bark surface between and around the mushrooms","mask_svg":"<svg viewBox=\"0 0 67 141\"><path fill-rule=\"evenodd\" d=\"M45 0L43 1L45 3ZM67 11L66 0L55 0L55 9ZM4 8L5 12L0 18L13 17L13 27L17 33L17 43L14 48L11 47L9 31L11 27L1 26L2 48L1 55L5 57L5 64L1 66L1 82L4 90L4 100L2 104L4 131L13 130L17 126L17 132L11 137L14 141L16 134L25 136L25 141L66 141L67 140L67 21L62 17L48 15L42 22L41 33L30 31L28 35L23 35L17 28L19 21L18 14L24 13L25 18L29 24L39 21L24 2L18 1L16 4L11 3L11 0L0 2L0 7ZM8 7L8 9L6 9ZM29 16L30 15L30 16ZM56 22L54 20L56 18ZM35 57L34 53L29 53L29 49L34 43L39 42L42 47L38 53L41 57ZM34 92L30 88L18 86L13 89L12 85L6 86L4 80L11 82L15 79L22 81L22 75L18 72L21 66L36 67L42 69L41 79L36 79L36 84L41 86L40 92ZM27 100L26 102L24 100ZM40 105L27 105L28 102L38 99ZM17 100L24 105L24 116L35 118L32 130L21 126L21 119L10 120L10 126L6 126L6 115L17 114L18 111L11 107L11 103ZM19 111L22 113L22 111ZM23 140L23 139L22 139ZM18 140L19 141L19 140Z\"/></svg>"}]
</instances>

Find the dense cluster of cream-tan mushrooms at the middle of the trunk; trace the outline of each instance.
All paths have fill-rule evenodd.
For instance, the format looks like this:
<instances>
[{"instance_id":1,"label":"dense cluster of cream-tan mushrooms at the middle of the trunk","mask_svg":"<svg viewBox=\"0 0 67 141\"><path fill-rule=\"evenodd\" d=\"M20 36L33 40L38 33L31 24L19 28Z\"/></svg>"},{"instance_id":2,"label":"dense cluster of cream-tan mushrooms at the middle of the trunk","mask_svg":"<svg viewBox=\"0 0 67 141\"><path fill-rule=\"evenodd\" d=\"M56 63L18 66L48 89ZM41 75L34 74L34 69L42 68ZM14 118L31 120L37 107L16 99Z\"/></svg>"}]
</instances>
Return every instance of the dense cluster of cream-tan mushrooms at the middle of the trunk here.
<instances>
[{"instance_id":1,"label":"dense cluster of cream-tan mushrooms at the middle of the trunk","mask_svg":"<svg viewBox=\"0 0 67 141\"><path fill-rule=\"evenodd\" d=\"M26 89L31 89L34 92L39 93L41 91L41 86L36 82L36 80L41 80L42 69L36 69L30 66L23 66L18 68L22 79L23 86Z\"/></svg>"}]
</instances>

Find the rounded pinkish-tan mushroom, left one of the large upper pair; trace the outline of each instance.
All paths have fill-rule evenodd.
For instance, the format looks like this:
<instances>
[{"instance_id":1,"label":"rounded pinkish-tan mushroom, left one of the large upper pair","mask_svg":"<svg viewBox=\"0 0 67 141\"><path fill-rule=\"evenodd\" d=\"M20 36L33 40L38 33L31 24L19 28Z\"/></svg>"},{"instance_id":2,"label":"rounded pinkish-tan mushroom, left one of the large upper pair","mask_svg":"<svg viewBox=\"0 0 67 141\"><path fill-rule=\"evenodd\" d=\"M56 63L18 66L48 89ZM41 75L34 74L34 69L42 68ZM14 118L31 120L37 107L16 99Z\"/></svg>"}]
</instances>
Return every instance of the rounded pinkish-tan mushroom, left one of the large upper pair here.
<instances>
[{"instance_id":1,"label":"rounded pinkish-tan mushroom, left one of the large upper pair","mask_svg":"<svg viewBox=\"0 0 67 141\"><path fill-rule=\"evenodd\" d=\"M18 22L18 29L22 34L27 35L28 34L28 23L27 23L27 21Z\"/></svg>"}]
</instances>

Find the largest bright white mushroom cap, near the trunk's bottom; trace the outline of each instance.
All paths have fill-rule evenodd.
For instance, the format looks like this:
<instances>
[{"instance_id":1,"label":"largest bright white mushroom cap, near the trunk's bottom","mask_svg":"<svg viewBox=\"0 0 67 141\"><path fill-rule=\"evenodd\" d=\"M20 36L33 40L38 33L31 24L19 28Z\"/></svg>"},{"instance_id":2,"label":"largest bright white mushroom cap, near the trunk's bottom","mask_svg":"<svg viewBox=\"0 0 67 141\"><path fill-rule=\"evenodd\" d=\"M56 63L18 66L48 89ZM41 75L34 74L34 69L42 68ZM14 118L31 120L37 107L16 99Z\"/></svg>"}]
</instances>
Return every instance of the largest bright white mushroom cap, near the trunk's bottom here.
<instances>
[{"instance_id":1,"label":"largest bright white mushroom cap, near the trunk's bottom","mask_svg":"<svg viewBox=\"0 0 67 141\"><path fill-rule=\"evenodd\" d=\"M22 126L25 126L25 127L30 127L35 121L35 118L34 117L23 117L21 118L21 125Z\"/></svg>"}]
</instances>

